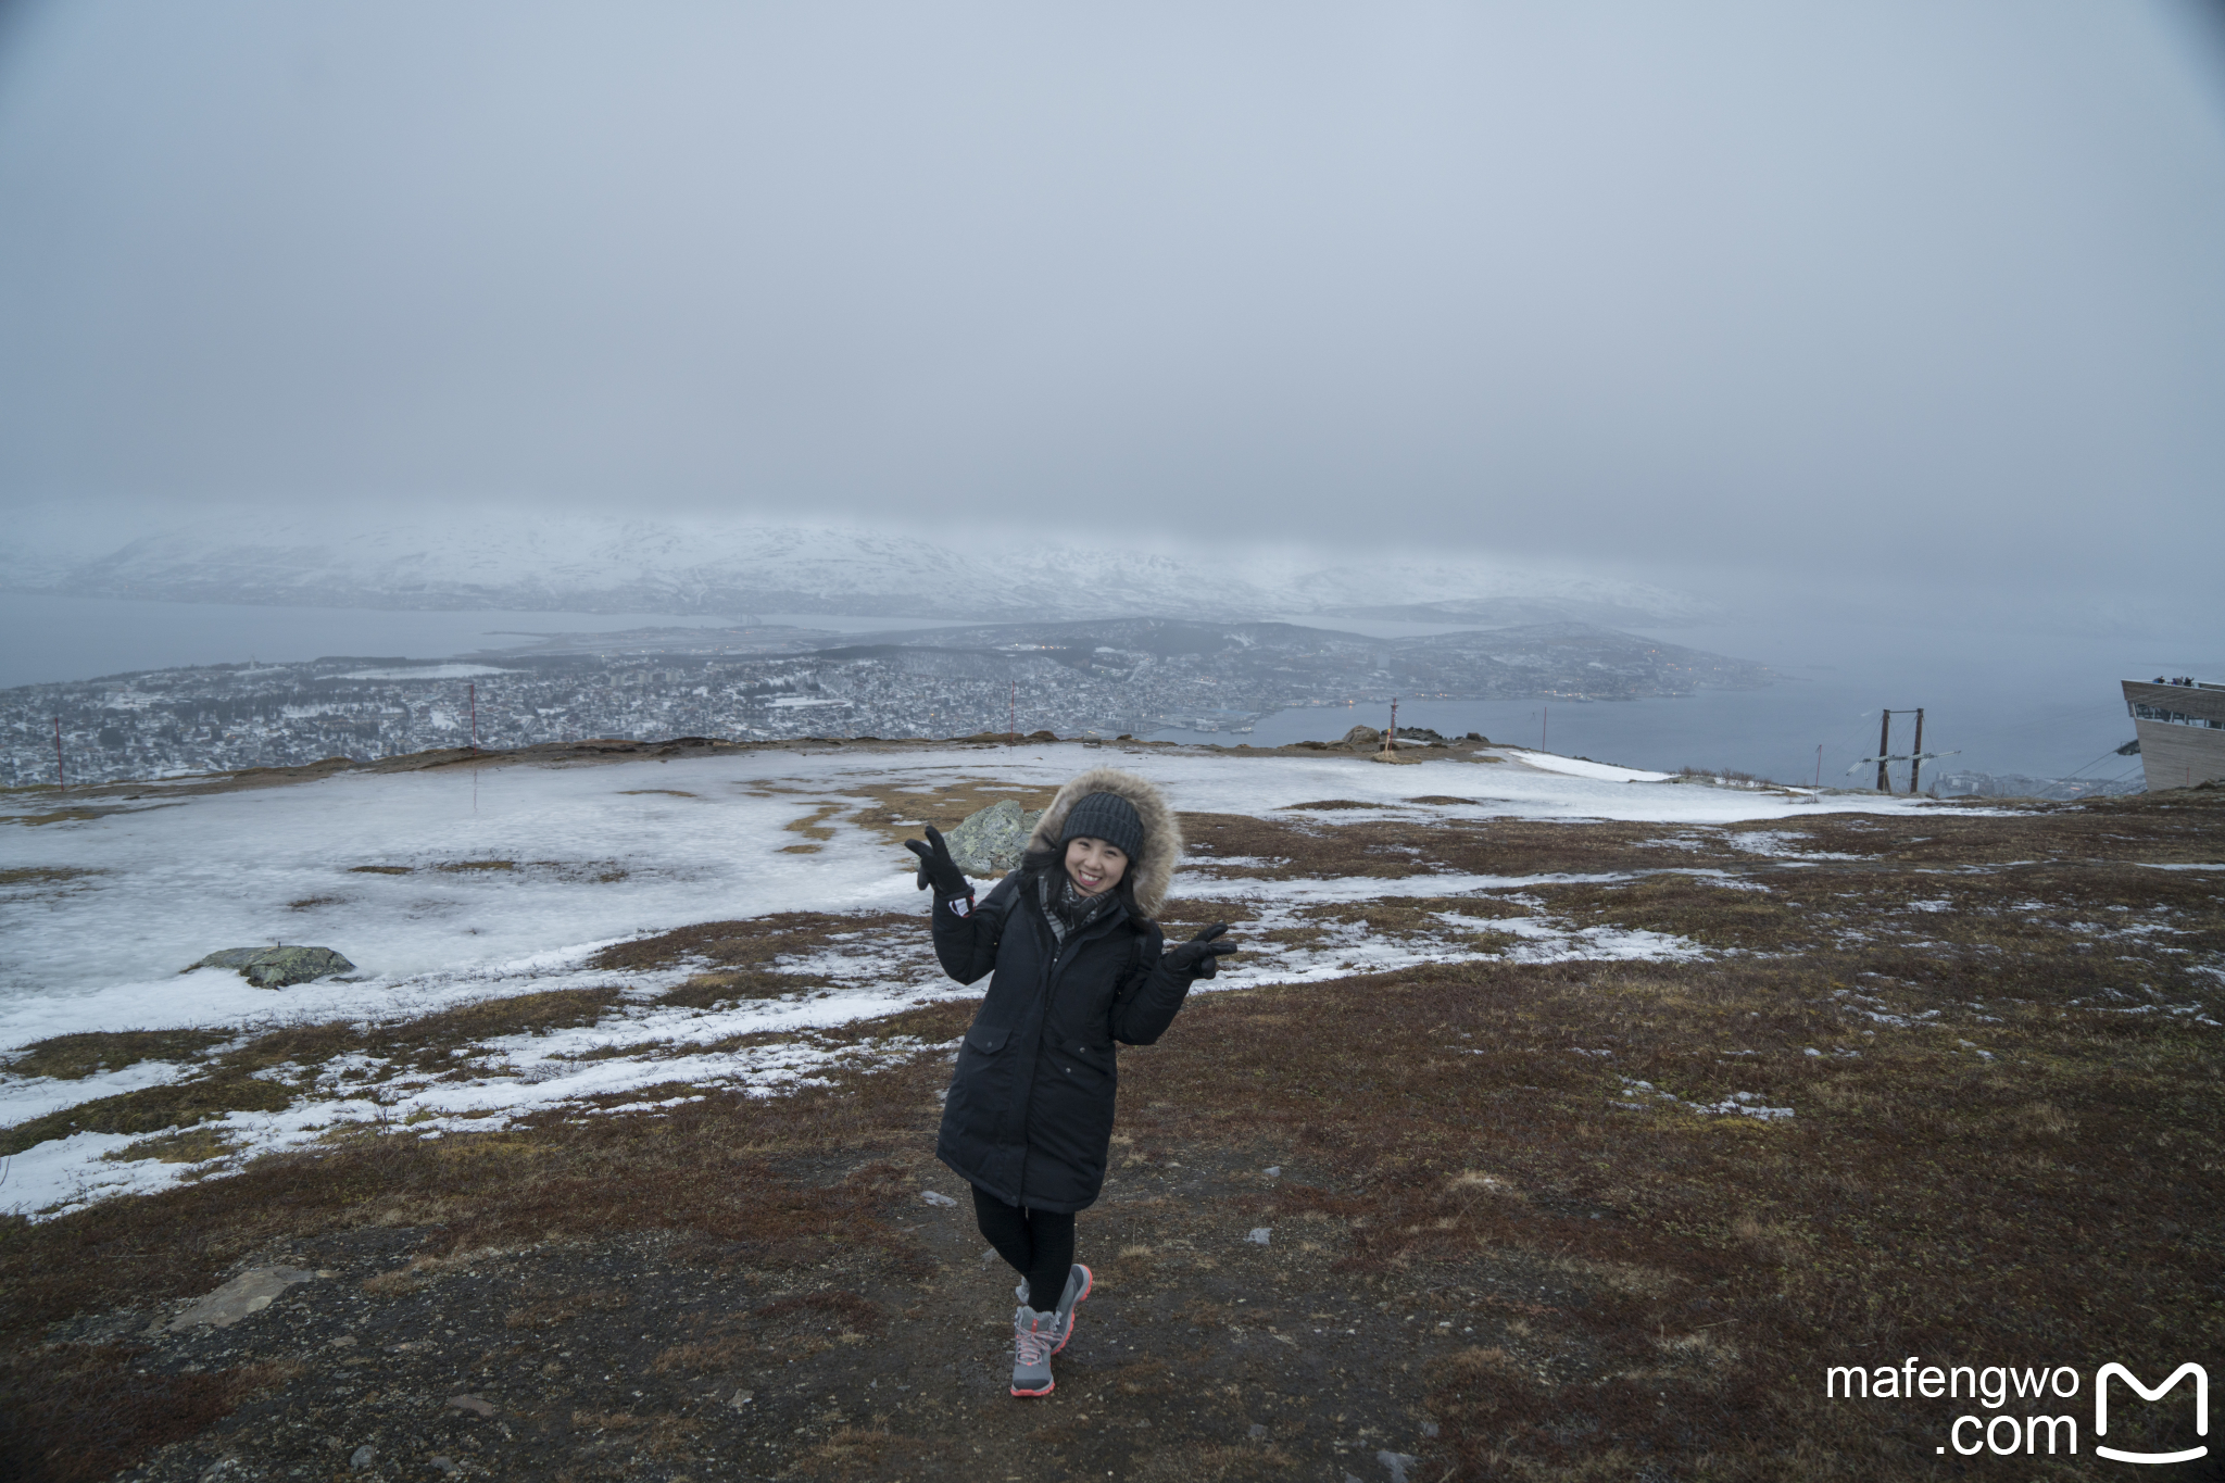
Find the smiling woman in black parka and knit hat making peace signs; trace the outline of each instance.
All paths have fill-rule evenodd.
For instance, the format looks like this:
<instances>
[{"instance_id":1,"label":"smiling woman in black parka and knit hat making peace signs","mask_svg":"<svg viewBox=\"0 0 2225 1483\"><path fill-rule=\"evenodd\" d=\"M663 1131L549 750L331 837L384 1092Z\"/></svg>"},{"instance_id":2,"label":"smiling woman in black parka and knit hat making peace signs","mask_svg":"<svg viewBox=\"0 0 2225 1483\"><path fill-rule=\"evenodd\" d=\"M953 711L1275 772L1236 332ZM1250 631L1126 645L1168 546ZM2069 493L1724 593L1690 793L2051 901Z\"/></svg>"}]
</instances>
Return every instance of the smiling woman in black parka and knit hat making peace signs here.
<instances>
[{"instance_id":1,"label":"smiling woman in black parka and knit hat making peace signs","mask_svg":"<svg viewBox=\"0 0 2225 1483\"><path fill-rule=\"evenodd\" d=\"M975 1190L975 1218L1021 1283L1012 1394L1048 1396L1050 1356L1075 1336L1090 1270L1075 1212L1106 1181L1112 1047L1150 1045L1235 943L1215 923L1166 952L1150 914L1181 856L1166 796L1092 767L1044 809L1017 872L975 903L943 836L906 840L934 887L934 956L959 983L990 978L959 1047L934 1156Z\"/></svg>"}]
</instances>

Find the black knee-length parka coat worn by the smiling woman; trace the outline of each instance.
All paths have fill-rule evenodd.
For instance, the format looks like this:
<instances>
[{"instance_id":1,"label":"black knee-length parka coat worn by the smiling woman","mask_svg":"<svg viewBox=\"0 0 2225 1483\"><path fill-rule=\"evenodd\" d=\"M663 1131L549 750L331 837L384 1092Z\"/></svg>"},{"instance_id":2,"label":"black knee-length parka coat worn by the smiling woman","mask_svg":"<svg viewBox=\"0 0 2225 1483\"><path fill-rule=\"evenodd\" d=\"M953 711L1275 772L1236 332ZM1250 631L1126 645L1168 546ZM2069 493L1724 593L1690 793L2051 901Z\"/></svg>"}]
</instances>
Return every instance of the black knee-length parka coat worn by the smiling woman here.
<instances>
[{"instance_id":1,"label":"black knee-length parka coat worn by the smiling woman","mask_svg":"<svg viewBox=\"0 0 2225 1483\"><path fill-rule=\"evenodd\" d=\"M1112 1047L1166 1034L1190 976L1168 972L1164 934L1121 900L1059 943L1037 880L1015 872L966 916L934 907L943 972L959 983L995 972L959 1045L934 1156L1008 1205L1084 1210L1112 1145Z\"/></svg>"}]
</instances>

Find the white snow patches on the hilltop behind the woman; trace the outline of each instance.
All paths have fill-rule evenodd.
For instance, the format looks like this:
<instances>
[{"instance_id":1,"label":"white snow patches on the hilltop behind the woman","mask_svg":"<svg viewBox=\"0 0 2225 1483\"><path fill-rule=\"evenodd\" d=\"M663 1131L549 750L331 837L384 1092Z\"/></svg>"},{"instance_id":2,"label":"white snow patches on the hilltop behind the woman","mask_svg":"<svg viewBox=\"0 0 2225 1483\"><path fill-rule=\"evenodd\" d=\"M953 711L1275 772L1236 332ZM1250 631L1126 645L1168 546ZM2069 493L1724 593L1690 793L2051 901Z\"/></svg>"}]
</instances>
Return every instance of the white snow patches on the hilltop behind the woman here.
<instances>
[{"instance_id":1,"label":"white snow patches on the hilltop behind the woman","mask_svg":"<svg viewBox=\"0 0 2225 1483\"><path fill-rule=\"evenodd\" d=\"M498 1129L550 1109L663 1116L714 1089L777 1096L823 1085L843 1069L948 1052L906 1038L857 1045L814 1038L817 1029L975 992L934 965L912 856L866 827L861 814L877 812L890 789L923 798L957 780L1048 789L1101 763L1150 776L1177 807L1250 816L1353 798L1413 818L1406 803L1413 794L1475 796L1484 774L1491 798L1442 812L1727 825L1789 809L1771 796L1631 787L1629 769L1595 763L1506 769L1435 758L1391 769L1335 756L1046 743L997 752L857 747L808 758L752 752L596 767L334 774L283 787L174 794L165 807L85 820L16 823L7 838L18 858L98 874L80 876L67 892L0 903L7 912L0 1052L71 1032L220 1027L245 1036L283 1023L412 1021L527 992L625 987L627 994L596 1025L469 1045L454 1058L452 1074L463 1074L452 1081L360 1054L325 1063L283 1112L234 1112L202 1123L234 1147L211 1163L105 1158L138 1141L122 1134L40 1143L9 1163L0 1207L78 1210L218 1172L258 1152L314 1145L349 1127L438 1136ZM674 800L668 796L674 789L694 798ZM0 827L44 807L4 803ZM1880 796L1847 807L1907 812L1914 803ZM799 852L805 838L797 827L805 823L825 838L810 838L810 849ZM1177 883L1181 896L1244 900L1257 912L1244 952L1219 978L1199 985L1208 992L1477 958L1709 956L1675 936L1575 929L1522 896L1522 887L1537 883L1631 878L1624 874L1244 880L1210 872L1279 863L1199 856L1195 865L1202 869ZM1433 914L1435 929L1420 932L1308 914L1415 896L1489 898L1493 912L1515 905L1529 914L1448 909ZM799 976L794 994L716 1009L652 1003L685 981L690 967L623 976L590 967L599 949L619 940L781 912L901 914L917 927L839 934L777 965ZM1290 929L1286 940L1268 940L1277 929ZM347 981L280 992L220 969L178 972L216 947L271 940L329 945L363 967ZM770 1041L732 1047L743 1036ZM140 1063L67 1083L0 1072L0 1121L24 1123L165 1085L189 1069Z\"/></svg>"}]
</instances>

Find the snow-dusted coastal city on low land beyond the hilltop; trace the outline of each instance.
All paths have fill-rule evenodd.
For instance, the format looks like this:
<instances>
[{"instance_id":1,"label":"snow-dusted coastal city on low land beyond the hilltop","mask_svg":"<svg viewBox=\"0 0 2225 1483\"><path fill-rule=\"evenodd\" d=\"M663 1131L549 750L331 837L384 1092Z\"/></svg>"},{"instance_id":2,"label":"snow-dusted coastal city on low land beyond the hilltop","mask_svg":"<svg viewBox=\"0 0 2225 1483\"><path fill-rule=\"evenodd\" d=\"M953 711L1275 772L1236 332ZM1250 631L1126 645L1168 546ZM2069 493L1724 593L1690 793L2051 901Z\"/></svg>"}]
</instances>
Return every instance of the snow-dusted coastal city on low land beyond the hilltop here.
<instances>
[{"instance_id":1,"label":"snow-dusted coastal city on low land beyond the hilltop","mask_svg":"<svg viewBox=\"0 0 2225 1483\"><path fill-rule=\"evenodd\" d=\"M463 660L200 665L0 691L0 780L113 783L432 747L712 736L1246 736L1270 711L1404 696L1631 700L1760 665L1582 623L1373 640L1284 623L990 625L841 643L656 629Z\"/></svg>"}]
</instances>

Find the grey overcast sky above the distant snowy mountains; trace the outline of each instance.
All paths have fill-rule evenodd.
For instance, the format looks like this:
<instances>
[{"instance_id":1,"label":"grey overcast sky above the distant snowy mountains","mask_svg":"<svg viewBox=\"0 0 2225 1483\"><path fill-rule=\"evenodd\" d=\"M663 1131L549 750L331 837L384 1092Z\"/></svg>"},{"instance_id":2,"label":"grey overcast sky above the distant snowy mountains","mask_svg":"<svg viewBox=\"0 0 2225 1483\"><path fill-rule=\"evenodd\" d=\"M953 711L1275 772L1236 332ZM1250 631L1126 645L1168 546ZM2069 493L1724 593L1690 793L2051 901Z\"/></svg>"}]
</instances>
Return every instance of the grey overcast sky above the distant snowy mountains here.
<instances>
[{"instance_id":1,"label":"grey overcast sky above the distant snowy mountains","mask_svg":"<svg viewBox=\"0 0 2225 1483\"><path fill-rule=\"evenodd\" d=\"M2205 44L2100 0L18 4L0 500L2214 614Z\"/></svg>"}]
</instances>

